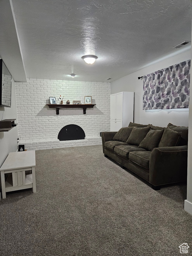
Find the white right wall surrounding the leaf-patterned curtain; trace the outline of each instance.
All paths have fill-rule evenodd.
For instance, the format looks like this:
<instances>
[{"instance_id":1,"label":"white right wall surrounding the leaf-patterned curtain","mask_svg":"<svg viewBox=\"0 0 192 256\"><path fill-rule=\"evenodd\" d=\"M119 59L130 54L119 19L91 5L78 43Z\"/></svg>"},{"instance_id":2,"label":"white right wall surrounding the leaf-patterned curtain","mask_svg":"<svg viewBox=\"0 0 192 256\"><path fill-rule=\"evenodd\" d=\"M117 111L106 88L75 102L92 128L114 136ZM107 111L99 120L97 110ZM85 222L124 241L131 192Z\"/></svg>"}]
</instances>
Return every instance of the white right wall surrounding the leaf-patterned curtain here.
<instances>
[{"instance_id":1,"label":"white right wall surrounding the leaf-patterned curtain","mask_svg":"<svg viewBox=\"0 0 192 256\"><path fill-rule=\"evenodd\" d=\"M141 124L153 124L157 126L167 126L168 123L179 126L188 126L189 109L170 109L170 110L143 110L143 79L138 77L155 72L159 69L169 67L179 62L191 59L191 50L187 50L178 55L169 57L124 76L111 82L111 94L121 91L135 92L134 122Z\"/></svg>"}]
</instances>

